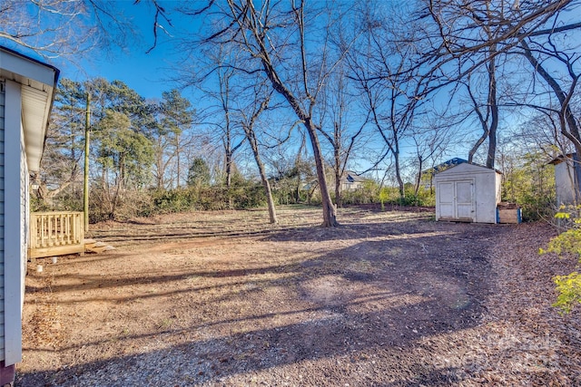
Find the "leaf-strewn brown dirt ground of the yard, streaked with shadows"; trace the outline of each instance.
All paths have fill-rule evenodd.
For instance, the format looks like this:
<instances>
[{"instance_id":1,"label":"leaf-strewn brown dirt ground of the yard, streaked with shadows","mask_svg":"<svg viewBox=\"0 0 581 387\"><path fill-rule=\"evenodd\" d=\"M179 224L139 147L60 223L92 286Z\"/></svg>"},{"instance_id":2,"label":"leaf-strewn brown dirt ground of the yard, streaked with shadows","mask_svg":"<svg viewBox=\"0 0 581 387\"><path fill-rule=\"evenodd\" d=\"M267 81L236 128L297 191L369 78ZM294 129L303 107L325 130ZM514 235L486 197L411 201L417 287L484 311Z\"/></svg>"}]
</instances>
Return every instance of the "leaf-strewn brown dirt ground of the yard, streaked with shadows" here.
<instances>
[{"instance_id":1,"label":"leaf-strewn brown dirt ground of the yard, streaked with shadows","mask_svg":"<svg viewBox=\"0 0 581 387\"><path fill-rule=\"evenodd\" d=\"M94 225L115 250L31 267L16 385L581 385L581 314L551 307L575 260L538 256L546 224L279 217Z\"/></svg>"}]
</instances>

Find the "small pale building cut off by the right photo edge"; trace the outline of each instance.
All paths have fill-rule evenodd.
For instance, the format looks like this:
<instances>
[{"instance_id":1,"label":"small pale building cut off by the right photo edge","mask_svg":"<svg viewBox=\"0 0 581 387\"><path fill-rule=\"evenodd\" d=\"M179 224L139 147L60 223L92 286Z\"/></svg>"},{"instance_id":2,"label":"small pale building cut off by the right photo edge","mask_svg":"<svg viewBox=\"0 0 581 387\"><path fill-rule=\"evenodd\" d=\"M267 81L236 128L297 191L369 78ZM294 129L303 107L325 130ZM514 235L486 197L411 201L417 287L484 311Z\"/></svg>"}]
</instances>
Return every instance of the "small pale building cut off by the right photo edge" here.
<instances>
[{"instance_id":1,"label":"small pale building cut off by the right photo edge","mask_svg":"<svg viewBox=\"0 0 581 387\"><path fill-rule=\"evenodd\" d=\"M579 203L581 164L576 153L561 155L548 163L555 166L556 205Z\"/></svg>"}]
</instances>

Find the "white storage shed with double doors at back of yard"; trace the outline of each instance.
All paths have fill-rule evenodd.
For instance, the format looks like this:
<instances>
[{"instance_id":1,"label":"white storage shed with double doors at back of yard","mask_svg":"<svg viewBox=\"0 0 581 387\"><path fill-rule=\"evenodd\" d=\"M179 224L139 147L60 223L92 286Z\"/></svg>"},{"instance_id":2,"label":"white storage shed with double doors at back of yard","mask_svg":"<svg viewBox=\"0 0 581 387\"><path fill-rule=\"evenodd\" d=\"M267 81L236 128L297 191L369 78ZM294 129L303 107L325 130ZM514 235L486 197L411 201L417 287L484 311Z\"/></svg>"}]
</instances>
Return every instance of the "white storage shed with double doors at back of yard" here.
<instances>
[{"instance_id":1,"label":"white storage shed with double doors at back of yard","mask_svg":"<svg viewBox=\"0 0 581 387\"><path fill-rule=\"evenodd\" d=\"M436 185L436 220L497 223L502 174L468 162L439 172Z\"/></svg>"}]
</instances>

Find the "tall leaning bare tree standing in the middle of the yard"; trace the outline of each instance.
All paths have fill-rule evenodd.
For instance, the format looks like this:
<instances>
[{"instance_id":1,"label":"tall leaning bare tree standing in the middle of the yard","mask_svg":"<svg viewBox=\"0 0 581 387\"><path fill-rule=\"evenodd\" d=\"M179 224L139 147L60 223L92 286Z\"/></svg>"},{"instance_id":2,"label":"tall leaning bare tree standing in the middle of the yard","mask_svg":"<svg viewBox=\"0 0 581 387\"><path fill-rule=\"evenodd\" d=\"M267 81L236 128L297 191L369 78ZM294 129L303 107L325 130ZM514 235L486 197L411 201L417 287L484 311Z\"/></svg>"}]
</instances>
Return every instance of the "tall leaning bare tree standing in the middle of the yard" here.
<instances>
[{"instance_id":1,"label":"tall leaning bare tree standing in the middle of the yard","mask_svg":"<svg viewBox=\"0 0 581 387\"><path fill-rule=\"evenodd\" d=\"M317 167L323 227L338 226L330 198L318 135L315 106L336 60L330 59L330 34L337 7L309 9L304 1L263 2L228 0L227 6L210 2L196 15L221 17L224 27L206 36L207 44L231 44L246 55L238 71L264 73L271 87L291 107L310 139ZM214 22L215 23L215 19Z\"/></svg>"}]
</instances>

